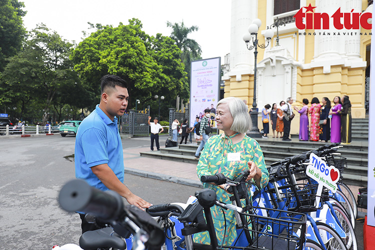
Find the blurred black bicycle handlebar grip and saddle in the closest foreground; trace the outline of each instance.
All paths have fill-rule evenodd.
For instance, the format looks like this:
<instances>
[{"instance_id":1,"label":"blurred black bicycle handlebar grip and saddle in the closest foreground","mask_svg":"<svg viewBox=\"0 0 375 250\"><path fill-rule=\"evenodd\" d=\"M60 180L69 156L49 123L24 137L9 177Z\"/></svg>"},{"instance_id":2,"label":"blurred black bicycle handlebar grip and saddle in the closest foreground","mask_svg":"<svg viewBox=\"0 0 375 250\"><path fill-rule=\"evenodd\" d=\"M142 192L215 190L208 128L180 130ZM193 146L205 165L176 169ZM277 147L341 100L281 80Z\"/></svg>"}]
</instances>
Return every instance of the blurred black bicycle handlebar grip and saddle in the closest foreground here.
<instances>
[{"instance_id":1,"label":"blurred black bicycle handlebar grip and saddle in the closest foreground","mask_svg":"<svg viewBox=\"0 0 375 250\"><path fill-rule=\"evenodd\" d=\"M60 190L58 201L62 209L92 214L110 227L87 231L79 238L83 249L126 249L125 238L133 235L132 246L136 250L160 249L163 230L146 212L134 205L124 205L121 196L111 190L101 191L84 180L74 179ZM129 248L129 249L130 249Z\"/></svg>"}]
</instances>

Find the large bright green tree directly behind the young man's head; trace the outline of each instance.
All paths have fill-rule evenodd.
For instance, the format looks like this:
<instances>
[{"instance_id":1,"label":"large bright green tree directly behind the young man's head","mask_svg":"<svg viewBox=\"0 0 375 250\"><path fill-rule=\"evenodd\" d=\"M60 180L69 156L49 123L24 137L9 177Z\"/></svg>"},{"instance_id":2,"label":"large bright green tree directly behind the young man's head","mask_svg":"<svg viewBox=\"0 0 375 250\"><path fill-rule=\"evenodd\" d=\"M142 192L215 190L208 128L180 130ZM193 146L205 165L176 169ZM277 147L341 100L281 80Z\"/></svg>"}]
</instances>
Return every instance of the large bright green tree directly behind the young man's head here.
<instances>
[{"instance_id":1,"label":"large bright green tree directly behind the young man's head","mask_svg":"<svg viewBox=\"0 0 375 250\"><path fill-rule=\"evenodd\" d=\"M97 96L93 104L99 101L99 79L105 74L116 74L128 82L129 108L135 107L135 99L141 102L138 110L148 104L157 108L155 94L172 102L177 94L188 95L181 51L169 37L147 35L135 18L128 25L96 24L96 29L71 56L83 85Z\"/></svg>"}]
</instances>

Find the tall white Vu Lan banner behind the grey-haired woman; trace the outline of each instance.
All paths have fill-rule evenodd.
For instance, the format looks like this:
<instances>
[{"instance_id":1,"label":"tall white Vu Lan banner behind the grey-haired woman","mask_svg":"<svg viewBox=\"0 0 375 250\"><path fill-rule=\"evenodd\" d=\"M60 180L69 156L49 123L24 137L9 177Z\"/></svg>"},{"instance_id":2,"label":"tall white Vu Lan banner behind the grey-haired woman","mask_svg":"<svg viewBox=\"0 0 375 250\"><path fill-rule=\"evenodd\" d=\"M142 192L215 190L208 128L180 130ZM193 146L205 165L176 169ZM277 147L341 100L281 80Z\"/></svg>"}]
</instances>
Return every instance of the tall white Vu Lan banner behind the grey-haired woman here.
<instances>
[{"instance_id":1,"label":"tall white Vu Lan banner behind the grey-haired woman","mask_svg":"<svg viewBox=\"0 0 375 250\"><path fill-rule=\"evenodd\" d=\"M190 127L194 125L195 117L199 120L204 115L204 109L210 109L210 120L213 127L216 114L216 104L220 97L221 81L220 57L191 62L190 72Z\"/></svg>"}]
</instances>

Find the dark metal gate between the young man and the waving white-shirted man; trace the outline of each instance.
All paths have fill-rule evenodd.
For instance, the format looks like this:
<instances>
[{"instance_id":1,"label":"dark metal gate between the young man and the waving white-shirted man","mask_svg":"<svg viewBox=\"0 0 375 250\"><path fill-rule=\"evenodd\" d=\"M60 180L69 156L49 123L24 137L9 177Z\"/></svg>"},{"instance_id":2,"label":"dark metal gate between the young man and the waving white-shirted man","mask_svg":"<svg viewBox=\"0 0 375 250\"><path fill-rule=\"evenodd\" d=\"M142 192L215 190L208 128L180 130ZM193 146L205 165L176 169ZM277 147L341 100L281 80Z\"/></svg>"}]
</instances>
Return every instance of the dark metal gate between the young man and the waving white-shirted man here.
<instances>
[{"instance_id":1,"label":"dark metal gate between the young man and the waving white-shirted man","mask_svg":"<svg viewBox=\"0 0 375 250\"><path fill-rule=\"evenodd\" d=\"M120 133L129 135L149 135L149 106L142 112L130 109L128 113L121 116L119 125Z\"/></svg>"}]
</instances>

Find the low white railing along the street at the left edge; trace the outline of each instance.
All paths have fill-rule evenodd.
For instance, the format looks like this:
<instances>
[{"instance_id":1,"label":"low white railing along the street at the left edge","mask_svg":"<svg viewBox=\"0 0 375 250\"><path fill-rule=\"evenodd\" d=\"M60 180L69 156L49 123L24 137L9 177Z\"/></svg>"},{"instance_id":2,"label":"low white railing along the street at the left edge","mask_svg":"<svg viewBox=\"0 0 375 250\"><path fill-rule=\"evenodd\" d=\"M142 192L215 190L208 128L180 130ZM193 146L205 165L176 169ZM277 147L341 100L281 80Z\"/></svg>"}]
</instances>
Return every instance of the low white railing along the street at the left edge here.
<instances>
[{"instance_id":1,"label":"low white railing along the street at the left edge","mask_svg":"<svg viewBox=\"0 0 375 250\"><path fill-rule=\"evenodd\" d=\"M9 134L40 134L40 133L58 133L58 126L0 126L0 135Z\"/></svg>"}]
</instances>

